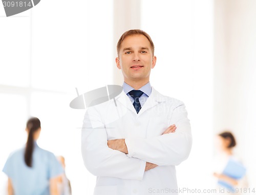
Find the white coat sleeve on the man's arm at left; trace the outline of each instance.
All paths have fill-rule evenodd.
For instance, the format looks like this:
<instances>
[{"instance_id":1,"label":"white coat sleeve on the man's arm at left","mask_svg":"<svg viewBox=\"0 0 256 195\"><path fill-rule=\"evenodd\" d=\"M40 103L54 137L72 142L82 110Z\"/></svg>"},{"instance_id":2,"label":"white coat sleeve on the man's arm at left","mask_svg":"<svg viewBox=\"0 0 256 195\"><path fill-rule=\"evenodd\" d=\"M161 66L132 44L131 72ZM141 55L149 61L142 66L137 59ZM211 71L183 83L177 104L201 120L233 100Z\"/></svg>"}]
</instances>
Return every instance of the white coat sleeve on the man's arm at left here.
<instances>
[{"instance_id":1,"label":"white coat sleeve on the man's arm at left","mask_svg":"<svg viewBox=\"0 0 256 195\"><path fill-rule=\"evenodd\" d=\"M95 176L142 180L146 162L108 147L99 112L90 107L84 116L81 151L86 168Z\"/></svg>"}]
</instances>

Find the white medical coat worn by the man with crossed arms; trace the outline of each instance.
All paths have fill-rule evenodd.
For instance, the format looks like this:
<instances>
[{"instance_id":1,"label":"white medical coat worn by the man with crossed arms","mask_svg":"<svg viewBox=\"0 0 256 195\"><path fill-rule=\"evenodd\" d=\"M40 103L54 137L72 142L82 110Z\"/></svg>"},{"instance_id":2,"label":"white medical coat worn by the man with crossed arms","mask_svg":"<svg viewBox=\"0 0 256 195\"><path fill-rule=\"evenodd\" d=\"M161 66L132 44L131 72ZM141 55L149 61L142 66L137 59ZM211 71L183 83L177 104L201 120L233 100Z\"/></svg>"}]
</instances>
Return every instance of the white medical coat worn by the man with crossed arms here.
<instances>
[{"instance_id":1,"label":"white medical coat worn by the man with crossed arms","mask_svg":"<svg viewBox=\"0 0 256 195\"><path fill-rule=\"evenodd\" d=\"M154 88L138 114L124 92L115 101L89 107L84 116L82 157L97 176L94 194L178 194L175 165L192 144L184 103ZM176 132L162 135L172 124ZM129 154L109 148L114 139L125 139ZM144 171L146 162L159 166Z\"/></svg>"}]
</instances>

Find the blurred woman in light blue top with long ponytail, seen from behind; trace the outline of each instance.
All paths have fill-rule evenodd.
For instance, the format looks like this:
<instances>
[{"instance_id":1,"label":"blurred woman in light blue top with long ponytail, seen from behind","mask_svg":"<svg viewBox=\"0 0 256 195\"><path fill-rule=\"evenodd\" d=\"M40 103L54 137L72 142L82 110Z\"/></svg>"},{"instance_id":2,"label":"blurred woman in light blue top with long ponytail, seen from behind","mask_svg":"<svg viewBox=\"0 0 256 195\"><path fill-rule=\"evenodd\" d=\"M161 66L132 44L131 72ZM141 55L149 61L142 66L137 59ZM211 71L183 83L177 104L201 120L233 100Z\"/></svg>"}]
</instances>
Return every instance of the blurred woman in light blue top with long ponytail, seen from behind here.
<instances>
[{"instance_id":1,"label":"blurred woman in light blue top with long ponytail, seen from behind","mask_svg":"<svg viewBox=\"0 0 256 195\"><path fill-rule=\"evenodd\" d=\"M8 176L8 195L58 195L57 182L63 169L53 153L36 143L40 120L30 118L26 132L26 147L14 151L3 169Z\"/></svg>"}]
</instances>

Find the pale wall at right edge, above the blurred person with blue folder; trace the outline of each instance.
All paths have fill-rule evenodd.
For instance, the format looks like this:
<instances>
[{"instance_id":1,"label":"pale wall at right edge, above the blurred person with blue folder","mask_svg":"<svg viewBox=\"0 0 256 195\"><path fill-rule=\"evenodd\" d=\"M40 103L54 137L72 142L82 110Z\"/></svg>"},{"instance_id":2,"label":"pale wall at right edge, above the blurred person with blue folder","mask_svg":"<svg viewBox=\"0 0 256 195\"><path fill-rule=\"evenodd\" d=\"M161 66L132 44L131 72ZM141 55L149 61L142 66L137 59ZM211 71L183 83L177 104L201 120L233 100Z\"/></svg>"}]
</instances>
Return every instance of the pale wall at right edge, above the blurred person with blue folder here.
<instances>
[{"instance_id":1,"label":"pale wall at right edge, above the blurred person with blue folder","mask_svg":"<svg viewBox=\"0 0 256 195\"><path fill-rule=\"evenodd\" d=\"M256 2L215 1L214 132L230 129L256 183Z\"/></svg>"}]
</instances>

